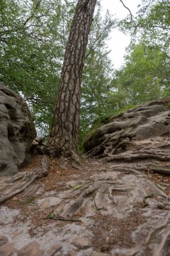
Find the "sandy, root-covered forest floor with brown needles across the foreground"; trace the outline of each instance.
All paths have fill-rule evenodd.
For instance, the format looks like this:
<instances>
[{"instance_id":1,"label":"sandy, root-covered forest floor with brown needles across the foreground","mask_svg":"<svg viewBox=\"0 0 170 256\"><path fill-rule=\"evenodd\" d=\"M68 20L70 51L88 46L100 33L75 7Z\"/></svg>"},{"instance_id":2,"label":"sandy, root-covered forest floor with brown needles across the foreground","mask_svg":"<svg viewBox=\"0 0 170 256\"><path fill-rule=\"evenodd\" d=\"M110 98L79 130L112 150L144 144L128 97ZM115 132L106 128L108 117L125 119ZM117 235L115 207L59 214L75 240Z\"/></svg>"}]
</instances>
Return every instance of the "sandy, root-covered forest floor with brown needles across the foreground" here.
<instances>
[{"instance_id":1,"label":"sandy, root-covered forest floor with brown needles across the foreground","mask_svg":"<svg viewBox=\"0 0 170 256\"><path fill-rule=\"evenodd\" d=\"M40 168L42 158L20 171ZM46 177L1 205L0 255L169 255L169 184L112 162L64 170L50 159Z\"/></svg>"}]
</instances>

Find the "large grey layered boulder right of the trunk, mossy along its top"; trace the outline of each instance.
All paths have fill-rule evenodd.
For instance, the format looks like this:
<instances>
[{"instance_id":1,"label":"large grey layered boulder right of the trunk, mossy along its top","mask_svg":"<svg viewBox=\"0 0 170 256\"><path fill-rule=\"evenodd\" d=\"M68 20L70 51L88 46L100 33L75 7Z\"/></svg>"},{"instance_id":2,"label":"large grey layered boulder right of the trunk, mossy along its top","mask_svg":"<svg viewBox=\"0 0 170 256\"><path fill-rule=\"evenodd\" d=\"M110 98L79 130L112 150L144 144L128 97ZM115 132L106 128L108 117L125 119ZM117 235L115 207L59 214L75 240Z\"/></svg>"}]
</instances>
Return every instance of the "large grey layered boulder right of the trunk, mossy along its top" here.
<instances>
[{"instance_id":1,"label":"large grey layered boulder right of the trunk, mossy along its top","mask_svg":"<svg viewBox=\"0 0 170 256\"><path fill-rule=\"evenodd\" d=\"M165 161L169 160L169 135L170 98L153 100L114 115L91 131L85 139L84 156L129 161L151 155Z\"/></svg>"}]
</instances>

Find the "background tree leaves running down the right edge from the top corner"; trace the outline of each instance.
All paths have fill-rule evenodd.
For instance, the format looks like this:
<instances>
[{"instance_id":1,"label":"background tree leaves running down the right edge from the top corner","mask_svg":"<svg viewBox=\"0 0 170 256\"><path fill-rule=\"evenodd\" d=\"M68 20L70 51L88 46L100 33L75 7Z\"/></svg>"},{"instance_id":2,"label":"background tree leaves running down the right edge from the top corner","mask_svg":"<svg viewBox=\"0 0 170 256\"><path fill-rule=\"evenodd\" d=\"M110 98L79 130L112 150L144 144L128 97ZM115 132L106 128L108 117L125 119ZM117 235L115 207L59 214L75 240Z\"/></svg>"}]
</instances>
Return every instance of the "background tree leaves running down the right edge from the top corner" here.
<instances>
[{"instance_id":1,"label":"background tree leaves running down the right edge from the top corner","mask_svg":"<svg viewBox=\"0 0 170 256\"><path fill-rule=\"evenodd\" d=\"M169 96L170 61L170 3L169 1L144 1L132 26L132 34L148 49L161 56L159 67L164 96ZM159 63L160 64L160 63ZM158 64L158 65L159 65ZM160 73L161 71L161 73Z\"/></svg>"}]
</instances>

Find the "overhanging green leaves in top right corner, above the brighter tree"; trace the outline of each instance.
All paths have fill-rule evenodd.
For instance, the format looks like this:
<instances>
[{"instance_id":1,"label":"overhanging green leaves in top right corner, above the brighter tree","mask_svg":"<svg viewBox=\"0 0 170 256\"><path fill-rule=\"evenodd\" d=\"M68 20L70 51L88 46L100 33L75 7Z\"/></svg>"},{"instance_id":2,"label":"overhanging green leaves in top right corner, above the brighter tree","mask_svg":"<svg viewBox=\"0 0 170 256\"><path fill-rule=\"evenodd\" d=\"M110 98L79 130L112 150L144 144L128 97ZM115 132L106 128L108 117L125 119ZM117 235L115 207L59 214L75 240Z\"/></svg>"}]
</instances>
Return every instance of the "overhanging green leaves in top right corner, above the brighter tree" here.
<instances>
[{"instance_id":1,"label":"overhanging green leaves in top right corner, above the brighter tree","mask_svg":"<svg viewBox=\"0 0 170 256\"><path fill-rule=\"evenodd\" d=\"M134 33L140 36L150 46L169 53L169 24L170 3L169 1L144 1L138 11L138 16L132 24Z\"/></svg>"}]
</instances>

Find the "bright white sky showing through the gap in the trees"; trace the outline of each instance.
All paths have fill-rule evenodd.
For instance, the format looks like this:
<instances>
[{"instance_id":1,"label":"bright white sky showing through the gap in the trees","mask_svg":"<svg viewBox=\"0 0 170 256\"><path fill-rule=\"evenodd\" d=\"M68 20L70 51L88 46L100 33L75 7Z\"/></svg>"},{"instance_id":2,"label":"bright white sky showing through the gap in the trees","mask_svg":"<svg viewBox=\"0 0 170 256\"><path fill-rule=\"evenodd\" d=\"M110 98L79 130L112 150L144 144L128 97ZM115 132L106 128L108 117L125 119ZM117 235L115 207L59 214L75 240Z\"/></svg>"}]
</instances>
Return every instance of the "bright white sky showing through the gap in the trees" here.
<instances>
[{"instance_id":1,"label":"bright white sky showing through the gap in the trees","mask_svg":"<svg viewBox=\"0 0 170 256\"><path fill-rule=\"evenodd\" d=\"M135 15L137 11L137 6L142 2L142 0L123 0L124 5L130 9L132 15ZM129 11L126 9L120 0L101 0L101 6L103 8L103 13L110 11L111 14L115 14L116 18L125 18ZM110 53L110 59L114 64L115 68L119 68L124 63L124 54L126 53L125 48L130 43L130 36L123 34L114 28L110 34L110 40L108 41L109 49L112 50Z\"/></svg>"}]
</instances>

